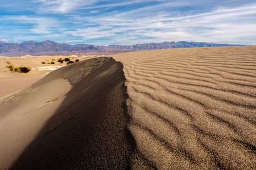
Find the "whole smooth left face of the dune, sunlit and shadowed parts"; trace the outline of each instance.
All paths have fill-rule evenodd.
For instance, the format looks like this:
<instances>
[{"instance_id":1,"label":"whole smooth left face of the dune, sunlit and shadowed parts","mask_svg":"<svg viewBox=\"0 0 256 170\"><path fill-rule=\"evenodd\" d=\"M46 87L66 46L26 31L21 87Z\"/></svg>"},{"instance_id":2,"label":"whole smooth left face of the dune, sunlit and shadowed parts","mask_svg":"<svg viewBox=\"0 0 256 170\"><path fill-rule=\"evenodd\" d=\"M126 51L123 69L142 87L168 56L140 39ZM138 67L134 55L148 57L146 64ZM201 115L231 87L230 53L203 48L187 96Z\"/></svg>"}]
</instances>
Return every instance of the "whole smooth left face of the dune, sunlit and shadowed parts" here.
<instances>
[{"instance_id":1,"label":"whole smooth left face of the dune, sunlit and shadowed parts","mask_svg":"<svg viewBox=\"0 0 256 170\"><path fill-rule=\"evenodd\" d=\"M121 62L109 57L80 61L2 101L1 116L8 119L0 117L5 121L0 124L1 168L129 168L135 143L127 129L122 69Z\"/></svg>"}]
</instances>

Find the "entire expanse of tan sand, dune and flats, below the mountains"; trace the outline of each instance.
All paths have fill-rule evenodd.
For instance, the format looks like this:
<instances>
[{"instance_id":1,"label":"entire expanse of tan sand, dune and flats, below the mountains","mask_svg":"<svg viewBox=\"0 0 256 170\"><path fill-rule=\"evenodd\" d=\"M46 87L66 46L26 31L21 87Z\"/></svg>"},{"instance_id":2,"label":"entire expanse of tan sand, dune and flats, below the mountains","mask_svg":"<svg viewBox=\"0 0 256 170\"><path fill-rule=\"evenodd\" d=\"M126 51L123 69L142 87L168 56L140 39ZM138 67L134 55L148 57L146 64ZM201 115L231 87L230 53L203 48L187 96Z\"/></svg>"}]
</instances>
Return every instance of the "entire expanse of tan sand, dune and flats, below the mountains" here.
<instances>
[{"instance_id":1,"label":"entire expanse of tan sand, dune and flats, below the mountains","mask_svg":"<svg viewBox=\"0 0 256 170\"><path fill-rule=\"evenodd\" d=\"M1 169L256 169L256 46L47 58L0 58Z\"/></svg>"}]
</instances>

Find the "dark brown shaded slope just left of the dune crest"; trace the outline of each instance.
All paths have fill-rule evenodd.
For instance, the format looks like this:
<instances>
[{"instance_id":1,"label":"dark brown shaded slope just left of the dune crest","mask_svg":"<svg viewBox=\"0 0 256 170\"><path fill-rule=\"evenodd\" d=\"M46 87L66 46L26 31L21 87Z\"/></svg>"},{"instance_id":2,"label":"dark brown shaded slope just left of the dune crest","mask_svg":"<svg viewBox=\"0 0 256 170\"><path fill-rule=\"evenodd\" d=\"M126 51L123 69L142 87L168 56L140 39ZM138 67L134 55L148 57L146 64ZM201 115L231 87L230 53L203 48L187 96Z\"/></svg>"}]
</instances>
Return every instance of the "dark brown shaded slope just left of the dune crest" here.
<instances>
[{"instance_id":1,"label":"dark brown shaded slope just left of the dune crest","mask_svg":"<svg viewBox=\"0 0 256 170\"><path fill-rule=\"evenodd\" d=\"M32 85L65 78L72 89L11 169L130 169L135 142L122 69L113 58L90 59Z\"/></svg>"}]
</instances>

